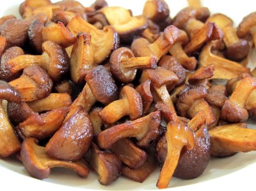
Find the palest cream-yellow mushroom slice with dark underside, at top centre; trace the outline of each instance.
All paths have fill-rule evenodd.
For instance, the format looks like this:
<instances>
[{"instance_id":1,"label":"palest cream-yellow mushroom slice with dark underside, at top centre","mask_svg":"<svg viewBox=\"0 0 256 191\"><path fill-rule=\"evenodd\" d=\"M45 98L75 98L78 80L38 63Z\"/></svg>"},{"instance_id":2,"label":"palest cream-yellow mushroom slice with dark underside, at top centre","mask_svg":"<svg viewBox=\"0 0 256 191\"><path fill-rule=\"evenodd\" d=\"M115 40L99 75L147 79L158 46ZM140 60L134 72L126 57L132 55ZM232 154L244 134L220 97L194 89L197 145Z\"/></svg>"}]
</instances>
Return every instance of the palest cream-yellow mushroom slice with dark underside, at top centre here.
<instances>
[{"instance_id":1,"label":"palest cream-yellow mushroom slice with dark underside, at top centre","mask_svg":"<svg viewBox=\"0 0 256 191\"><path fill-rule=\"evenodd\" d=\"M122 7L104 7L99 11L104 14L124 42L133 40L135 35L142 33L148 26L144 16L132 16L130 10Z\"/></svg>"}]
</instances>

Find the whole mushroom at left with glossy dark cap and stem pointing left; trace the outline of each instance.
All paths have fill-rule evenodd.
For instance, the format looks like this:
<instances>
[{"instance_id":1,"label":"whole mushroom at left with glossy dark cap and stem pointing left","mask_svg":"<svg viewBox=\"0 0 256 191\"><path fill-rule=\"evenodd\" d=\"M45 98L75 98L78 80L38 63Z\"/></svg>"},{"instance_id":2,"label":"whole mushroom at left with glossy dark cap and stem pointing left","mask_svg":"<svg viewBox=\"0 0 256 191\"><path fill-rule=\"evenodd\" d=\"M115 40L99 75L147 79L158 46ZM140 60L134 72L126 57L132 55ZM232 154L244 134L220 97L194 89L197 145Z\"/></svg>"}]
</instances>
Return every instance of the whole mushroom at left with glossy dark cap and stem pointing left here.
<instances>
[{"instance_id":1,"label":"whole mushroom at left with glossy dark cap and stem pointing left","mask_svg":"<svg viewBox=\"0 0 256 191\"><path fill-rule=\"evenodd\" d=\"M59 81L69 70L69 57L63 47L54 41L45 41L42 49L42 55L21 55L7 61L10 73L15 74L31 65L39 65L54 81Z\"/></svg>"}]
</instances>

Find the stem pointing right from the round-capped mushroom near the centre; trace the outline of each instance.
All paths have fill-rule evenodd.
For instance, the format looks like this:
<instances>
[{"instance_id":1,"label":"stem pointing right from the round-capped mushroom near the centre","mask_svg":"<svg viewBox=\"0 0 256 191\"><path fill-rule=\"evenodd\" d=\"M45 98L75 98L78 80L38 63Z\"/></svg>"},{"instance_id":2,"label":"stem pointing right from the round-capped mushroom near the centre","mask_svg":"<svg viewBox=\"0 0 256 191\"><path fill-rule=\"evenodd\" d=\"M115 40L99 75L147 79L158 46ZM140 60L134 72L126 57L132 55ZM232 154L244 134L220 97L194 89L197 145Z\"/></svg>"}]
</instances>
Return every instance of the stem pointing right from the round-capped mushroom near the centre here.
<instances>
[{"instance_id":1,"label":"stem pointing right from the round-capped mushroom near the centre","mask_svg":"<svg viewBox=\"0 0 256 191\"><path fill-rule=\"evenodd\" d=\"M153 57L132 57L132 58L122 58L120 67L124 71L129 71L133 69L147 69L156 66Z\"/></svg>"}]
</instances>

